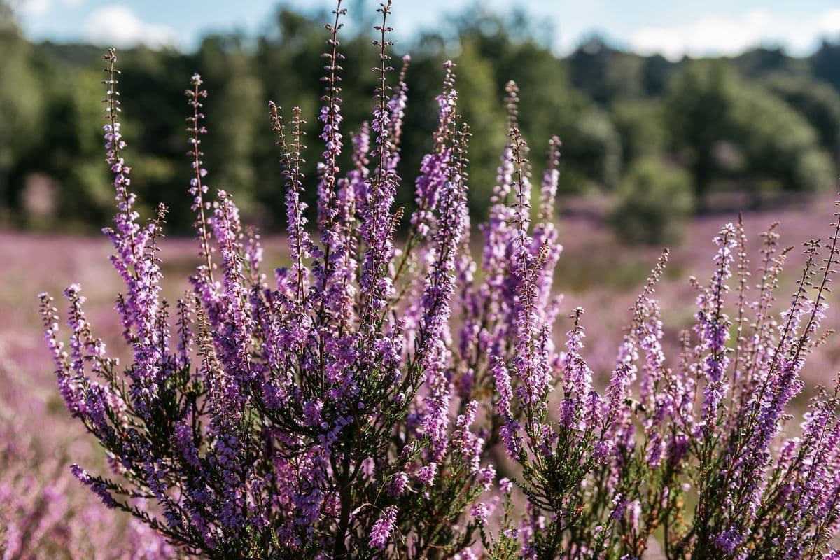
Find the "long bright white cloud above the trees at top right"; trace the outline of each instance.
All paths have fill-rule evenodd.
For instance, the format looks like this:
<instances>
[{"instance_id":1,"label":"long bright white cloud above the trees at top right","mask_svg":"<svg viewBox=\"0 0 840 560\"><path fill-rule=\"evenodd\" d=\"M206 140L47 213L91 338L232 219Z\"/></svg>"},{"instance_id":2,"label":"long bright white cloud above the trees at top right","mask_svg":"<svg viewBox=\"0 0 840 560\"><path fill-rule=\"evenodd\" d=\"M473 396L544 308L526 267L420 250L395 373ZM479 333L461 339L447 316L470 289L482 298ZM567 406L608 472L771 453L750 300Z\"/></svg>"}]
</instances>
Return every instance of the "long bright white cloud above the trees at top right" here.
<instances>
[{"instance_id":1,"label":"long bright white cloud above the trees at top right","mask_svg":"<svg viewBox=\"0 0 840 560\"><path fill-rule=\"evenodd\" d=\"M708 16L690 24L648 27L630 35L634 50L662 54L672 60L682 55L737 55L759 44L784 45L794 54L807 54L823 36L840 33L840 9L791 20L767 10L734 16Z\"/></svg>"}]
</instances>

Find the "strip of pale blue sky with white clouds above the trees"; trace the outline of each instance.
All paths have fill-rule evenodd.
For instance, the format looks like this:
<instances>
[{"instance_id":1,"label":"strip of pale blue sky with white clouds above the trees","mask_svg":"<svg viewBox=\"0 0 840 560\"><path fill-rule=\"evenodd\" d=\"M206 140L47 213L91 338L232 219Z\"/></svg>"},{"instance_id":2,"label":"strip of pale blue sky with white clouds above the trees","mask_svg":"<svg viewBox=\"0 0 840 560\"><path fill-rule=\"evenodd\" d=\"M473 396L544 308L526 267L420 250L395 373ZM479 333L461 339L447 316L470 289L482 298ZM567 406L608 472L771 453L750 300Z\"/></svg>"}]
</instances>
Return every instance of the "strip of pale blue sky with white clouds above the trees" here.
<instances>
[{"instance_id":1,"label":"strip of pale blue sky with white clouds above the trees","mask_svg":"<svg viewBox=\"0 0 840 560\"><path fill-rule=\"evenodd\" d=\"M333 0L286 0L296 8L330 8ZM359 0L345 0L354 8ZM210 30L258 31L276 0L13 0L34 39L88 40L127 46L143 42L191 49ZM502 12L524 8L554 29L560 53L594 32L612 42L669 58L736 54L757 44L807 55L821 37L840 37L837 0L482 0ZM373 0L367 0L374 9ZM395 0L397 39L445 21L475 0Z\"/></svg>"}]
</instances>

